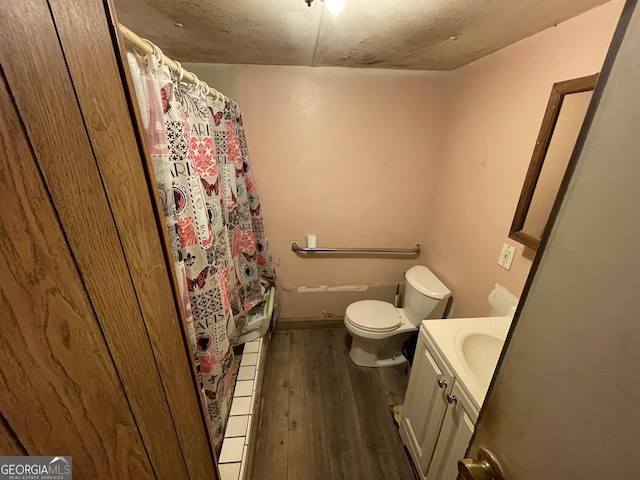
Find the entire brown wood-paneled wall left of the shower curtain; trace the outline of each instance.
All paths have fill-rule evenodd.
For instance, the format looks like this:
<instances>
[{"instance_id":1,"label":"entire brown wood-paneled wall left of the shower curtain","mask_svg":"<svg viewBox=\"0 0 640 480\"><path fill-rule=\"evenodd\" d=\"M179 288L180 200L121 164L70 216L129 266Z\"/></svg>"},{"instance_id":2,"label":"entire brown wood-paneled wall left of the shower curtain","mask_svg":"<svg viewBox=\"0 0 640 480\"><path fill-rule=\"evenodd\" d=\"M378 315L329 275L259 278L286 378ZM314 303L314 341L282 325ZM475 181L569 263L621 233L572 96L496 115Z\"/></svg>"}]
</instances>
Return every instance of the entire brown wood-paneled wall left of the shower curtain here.
<instances>
[{"instance_id":1,"label":"entire brown wood-paneled wall left of the shower curtain","mask_svg":"<svg viewBox=\"0 0 640 480\"><path fill-rule=\"evenodd\" d=\"M215 479L108 5L0 15L0 454L78 478Z\"/></svg>"}]
</instances>

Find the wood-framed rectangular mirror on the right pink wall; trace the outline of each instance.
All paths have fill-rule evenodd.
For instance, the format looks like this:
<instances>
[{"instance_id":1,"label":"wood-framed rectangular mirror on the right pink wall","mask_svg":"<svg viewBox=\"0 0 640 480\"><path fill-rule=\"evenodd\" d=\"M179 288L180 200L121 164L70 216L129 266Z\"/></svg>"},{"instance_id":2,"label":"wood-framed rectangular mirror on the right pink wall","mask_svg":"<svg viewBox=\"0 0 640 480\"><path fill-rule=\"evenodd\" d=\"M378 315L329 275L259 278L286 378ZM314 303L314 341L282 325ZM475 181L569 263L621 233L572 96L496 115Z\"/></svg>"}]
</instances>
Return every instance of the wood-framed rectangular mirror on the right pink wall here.
<instances>
[{"instance_id":1,"label":"wood-framed rectangular mirror on the right pink wall","mask_svg":"<svg viewBox=\"0 0 640 480\"><path fill-rule=\"evenodd\" d=\"M509 230L509 238L534 250L558 196L598 75L558 82L551 88Z\"/></svg>"}]
</instances>

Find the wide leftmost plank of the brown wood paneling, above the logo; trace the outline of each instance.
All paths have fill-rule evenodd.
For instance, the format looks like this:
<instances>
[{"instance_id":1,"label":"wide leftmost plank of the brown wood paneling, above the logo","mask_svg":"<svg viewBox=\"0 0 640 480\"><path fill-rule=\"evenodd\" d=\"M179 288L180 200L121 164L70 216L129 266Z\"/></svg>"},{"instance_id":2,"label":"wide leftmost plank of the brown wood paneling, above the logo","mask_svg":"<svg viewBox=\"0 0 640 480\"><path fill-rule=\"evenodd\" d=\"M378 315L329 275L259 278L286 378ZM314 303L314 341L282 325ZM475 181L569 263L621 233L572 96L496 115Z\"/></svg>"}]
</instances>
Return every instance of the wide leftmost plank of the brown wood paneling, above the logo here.
<instances>
[{"instance_id":1,"label":"wide leftmost plank of the brown wood paneling, above the logo","mask_svg":"<svg viewBox=\"0 0 640 480\"><path fill-rule=\"evenodd\" d=\"M140 432L11 95L0 90L0 408L29 454L79 478L154 478ZM13 438L12 438L13 437ZM4 453L4 452L3 452Z\"/></svg>"}]
</instances>

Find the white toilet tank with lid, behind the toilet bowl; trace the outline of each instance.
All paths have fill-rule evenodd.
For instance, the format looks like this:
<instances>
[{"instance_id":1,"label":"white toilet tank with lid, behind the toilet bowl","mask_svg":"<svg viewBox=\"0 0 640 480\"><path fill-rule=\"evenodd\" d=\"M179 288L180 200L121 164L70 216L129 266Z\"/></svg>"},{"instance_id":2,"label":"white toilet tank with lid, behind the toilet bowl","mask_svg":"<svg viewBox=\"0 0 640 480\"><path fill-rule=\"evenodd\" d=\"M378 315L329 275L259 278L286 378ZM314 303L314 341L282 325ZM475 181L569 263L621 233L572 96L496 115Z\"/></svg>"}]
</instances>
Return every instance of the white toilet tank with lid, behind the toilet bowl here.
<instances>
[{"instance_id":1,"label":"white toilet tank with lid, behind the toilet bowl","mask_svg":"<svg viewBox=\"0 0 640 480\"><path fill-rule=\"evenodd\" d=\"M415 326L444 303L451 291L427 267L416 265L404 274L404 313Z\"/></svg>"}]
</instances>

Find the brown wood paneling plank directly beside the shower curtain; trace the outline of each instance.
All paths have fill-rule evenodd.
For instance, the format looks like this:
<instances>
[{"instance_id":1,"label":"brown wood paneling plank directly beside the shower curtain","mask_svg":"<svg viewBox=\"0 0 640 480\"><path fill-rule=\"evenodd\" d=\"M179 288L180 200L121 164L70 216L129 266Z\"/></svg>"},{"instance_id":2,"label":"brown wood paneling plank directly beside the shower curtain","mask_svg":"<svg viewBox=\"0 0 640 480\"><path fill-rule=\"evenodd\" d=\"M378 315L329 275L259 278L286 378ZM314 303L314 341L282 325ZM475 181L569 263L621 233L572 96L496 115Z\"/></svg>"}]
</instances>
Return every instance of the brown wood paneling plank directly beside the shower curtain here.
<instances>
[{"instance_id":1,"label":"brown wood paneling plank directly beside the shower curtain","mask_svg":"<svg viewBox=\"0 0 640 480\"><path fill-rule=\"evenodd\" d=\"M156 181L150 175L153 166L144 148L146 137L138 134L131 120L130 108L137 102L123 84L121 57L114 50L117 22L105 17L101 0L50 0L49 4L187 470L193 478L209 478L213 465L203 461L211 457L212 448L205 411L194 365L185 356L190 340L179 315L175 277L167 274L172 263L170 255L163 255L168 239L160 220L164 216ZM128 73L126 63L120 66Z\"/></svg>"}]
</instances>

